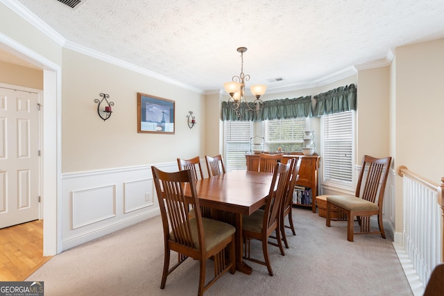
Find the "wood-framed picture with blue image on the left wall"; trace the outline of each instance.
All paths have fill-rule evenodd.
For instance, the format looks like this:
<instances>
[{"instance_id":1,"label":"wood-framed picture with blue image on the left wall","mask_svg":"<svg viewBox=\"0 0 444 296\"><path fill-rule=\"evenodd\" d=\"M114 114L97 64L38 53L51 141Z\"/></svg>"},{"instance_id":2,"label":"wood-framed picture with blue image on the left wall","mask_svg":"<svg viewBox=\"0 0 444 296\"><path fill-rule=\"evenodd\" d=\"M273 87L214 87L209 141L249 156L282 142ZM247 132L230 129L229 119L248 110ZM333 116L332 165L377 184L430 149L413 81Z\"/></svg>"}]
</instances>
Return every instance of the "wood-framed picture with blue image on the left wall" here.
<instances>
[{"instance_id":1,"label":"wood-framed picture with blue image on the left wall","mask_svg":"<svg viewBox=\"0 0 444 296\"><path fill-rule=\"evenodd\" d=\"M137 93L137 132L174 134L176 102Z\"/></svg>"}]
</instances>

